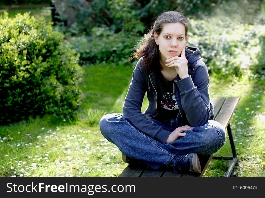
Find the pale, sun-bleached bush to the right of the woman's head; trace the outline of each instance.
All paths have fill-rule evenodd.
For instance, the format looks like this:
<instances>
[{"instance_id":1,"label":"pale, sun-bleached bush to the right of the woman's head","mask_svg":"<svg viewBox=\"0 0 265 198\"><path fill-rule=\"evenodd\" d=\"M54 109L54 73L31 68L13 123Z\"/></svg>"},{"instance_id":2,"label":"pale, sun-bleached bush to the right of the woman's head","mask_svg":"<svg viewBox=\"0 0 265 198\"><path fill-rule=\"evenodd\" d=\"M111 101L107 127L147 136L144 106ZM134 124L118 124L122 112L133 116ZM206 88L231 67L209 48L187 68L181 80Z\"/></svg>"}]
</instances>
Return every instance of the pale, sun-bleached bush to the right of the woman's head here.
<instances>
[{"instance_id":1,"label":"pale, sun-bleached bush to the right of the woman's head","mask_svg":"<svg viewBox=\"0 0 265 198\"><path fill-rule=\"evenodd\" d=\"M256 26L232 22L225 16L190 22L188 43L199 47L210 72L238 75L256 64L259 48ZM264 60L264 56L260 59Z\"/></svg>"}]
</instances>

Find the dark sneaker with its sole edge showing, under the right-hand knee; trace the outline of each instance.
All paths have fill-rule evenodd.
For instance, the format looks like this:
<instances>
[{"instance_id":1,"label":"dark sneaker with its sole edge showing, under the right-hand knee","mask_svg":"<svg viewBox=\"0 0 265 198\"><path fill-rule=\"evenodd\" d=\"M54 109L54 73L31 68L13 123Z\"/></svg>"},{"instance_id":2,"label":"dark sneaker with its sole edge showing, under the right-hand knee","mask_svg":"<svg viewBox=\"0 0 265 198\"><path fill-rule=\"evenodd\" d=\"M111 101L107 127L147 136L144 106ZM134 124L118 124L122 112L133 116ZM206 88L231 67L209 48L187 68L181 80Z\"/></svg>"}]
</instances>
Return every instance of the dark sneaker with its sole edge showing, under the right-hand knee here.
<instances>
[{"instance_id":1,"label":"dark sneaker with its sole edge showing, under the right-hand knee","mask_svg":"<svg viewBox=\"0 0 265 198\"><path fill-rule=\"evenodd\" d=\"M201 164L196 153L180 155L173 159L174 172L192 171L201 173Z\"/></svg>"}]
</instances>

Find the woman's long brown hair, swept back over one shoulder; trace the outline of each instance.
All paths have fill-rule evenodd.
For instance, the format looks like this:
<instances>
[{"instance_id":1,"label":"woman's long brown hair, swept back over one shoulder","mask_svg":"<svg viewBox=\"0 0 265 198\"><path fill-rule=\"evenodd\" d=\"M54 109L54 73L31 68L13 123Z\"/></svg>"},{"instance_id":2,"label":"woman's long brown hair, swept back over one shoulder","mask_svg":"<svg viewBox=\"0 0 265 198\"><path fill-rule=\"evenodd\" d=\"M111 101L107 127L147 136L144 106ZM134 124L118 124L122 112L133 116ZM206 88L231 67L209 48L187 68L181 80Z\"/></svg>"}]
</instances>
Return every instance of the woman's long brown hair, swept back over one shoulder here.
<instances>
[{"instance_id":1,"label":"woman's long brown hair, swept back over one shoulder","mask_svg":"<svg viewBox=\"0 0 265 198\"><path fill-rule=\"evenodd\" d=\"M163 29L164 23L182 23L185 27L185 37L190 28L190 24L186 17L177 11L163 12L158 16L152 29L150 29L139 41L135 51L132 53L133 57L131 58L131 60L133 60L144 56L142 63L148 68L148 70L151 67L155 67L157 64L160 65L160 52L158 45L154 40L154 33L156 32L159 35Z\"/></svg>"}]
</instances>

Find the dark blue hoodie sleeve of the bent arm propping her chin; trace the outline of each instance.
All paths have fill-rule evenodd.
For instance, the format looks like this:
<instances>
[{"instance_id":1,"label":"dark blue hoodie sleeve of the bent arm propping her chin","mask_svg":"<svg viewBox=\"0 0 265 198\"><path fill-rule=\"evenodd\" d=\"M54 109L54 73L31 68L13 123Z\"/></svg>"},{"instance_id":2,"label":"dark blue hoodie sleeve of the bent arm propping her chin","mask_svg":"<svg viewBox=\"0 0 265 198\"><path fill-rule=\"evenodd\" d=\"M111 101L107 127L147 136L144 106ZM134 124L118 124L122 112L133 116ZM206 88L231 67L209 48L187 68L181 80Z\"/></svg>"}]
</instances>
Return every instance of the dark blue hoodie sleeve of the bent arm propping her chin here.
<instances>
[{"instance_id":1,"label":"dark blue hoodie sleeve of the bent arm propping her chin","mask_svg":"<svg viewBox=\"0 0 265 198\"><path fill-rule=\"evenodd\" d=\"M206 124L211 116L208 92L210 77L206 66L199 67L193 79L189 76L176 83L180 90L181 105L191 126Z\"/></svg>"}]
</instances>

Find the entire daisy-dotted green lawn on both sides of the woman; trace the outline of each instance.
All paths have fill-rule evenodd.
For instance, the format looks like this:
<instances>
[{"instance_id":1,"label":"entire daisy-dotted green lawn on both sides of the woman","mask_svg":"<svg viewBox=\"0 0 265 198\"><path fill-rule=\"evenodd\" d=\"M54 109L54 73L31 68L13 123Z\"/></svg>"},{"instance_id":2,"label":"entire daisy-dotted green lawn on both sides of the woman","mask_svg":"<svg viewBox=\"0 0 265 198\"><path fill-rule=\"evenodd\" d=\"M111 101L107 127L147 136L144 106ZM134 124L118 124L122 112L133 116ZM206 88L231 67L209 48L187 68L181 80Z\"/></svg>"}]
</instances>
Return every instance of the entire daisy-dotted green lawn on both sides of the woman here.
<instances>
[{"instance_id":1,"label":"entire daisy-dotted green lawn on both sides of the woman","mask_svg":"<svg viewBox=\"0 0 265 198\"><path fill-rule=\"evenodd\" d=\"M131 79L131 64L104 64L85 68L80 88L86 98L70 122L53 115L30 118L0 127L0 176L118 176L126 167L119 149L100 133L105 113L122 112ZM248 74L220 79L211 76L210 95L240 96L231 120L239 165L232 176L265 176L265 80ZM145 107L147 105L145 99ZM228 138L218 155L231 155ZM212 160L206 177L223 177L229 162Z\"/></svg>"}]
</instances>

